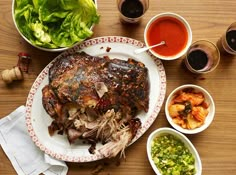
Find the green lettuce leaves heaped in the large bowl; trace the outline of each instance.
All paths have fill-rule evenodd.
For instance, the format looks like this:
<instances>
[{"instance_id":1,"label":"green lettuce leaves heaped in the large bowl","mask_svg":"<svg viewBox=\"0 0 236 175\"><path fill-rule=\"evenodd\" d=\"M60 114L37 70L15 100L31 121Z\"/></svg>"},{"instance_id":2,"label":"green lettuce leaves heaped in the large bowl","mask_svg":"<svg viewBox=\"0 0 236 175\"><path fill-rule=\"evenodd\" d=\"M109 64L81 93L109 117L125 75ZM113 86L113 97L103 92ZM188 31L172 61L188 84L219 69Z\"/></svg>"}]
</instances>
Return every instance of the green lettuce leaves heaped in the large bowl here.
<instances>
[{"instance_id":1,"label":"green lettuce leaves heaped in the large bowl","mask_svg":"<svg viewBox=\"0 0 236 175\"><path fill-rule=\"evenodd\" d=\"M16 0L14 18L32 44L45 48L70 47L99 22L93 0Z\"/></svg>"}]
</instances>

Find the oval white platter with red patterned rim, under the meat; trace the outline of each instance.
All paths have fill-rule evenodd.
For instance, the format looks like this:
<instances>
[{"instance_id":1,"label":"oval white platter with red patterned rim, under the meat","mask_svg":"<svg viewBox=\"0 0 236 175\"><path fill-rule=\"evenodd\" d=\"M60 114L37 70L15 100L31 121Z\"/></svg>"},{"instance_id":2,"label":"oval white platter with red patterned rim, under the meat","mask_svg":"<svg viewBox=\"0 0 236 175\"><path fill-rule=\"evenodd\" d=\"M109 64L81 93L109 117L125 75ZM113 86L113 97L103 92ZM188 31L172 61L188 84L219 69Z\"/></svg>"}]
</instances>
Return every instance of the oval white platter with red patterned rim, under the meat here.
<instances>
[{"instance_id":1,"label":"oval white platter with red patterned rim, under the meat","mask_svg":"<svg viewBox=\"0 0 236 175\"><path fill-rule=\"evenodd\" d=\"M166 74L164 67L159 59L153 57L149 52L139 55L134 54L134 50L144 47L140 41L120 37L106 36L84 41L82 44L60 54L49 63L36 78L29 92L26 102L26 124L29 134L34 143L46 154L68 161L68 162L91 162L104 158L101 154L90 154L87 144L69 144L66 136L55 134L50 136L48 126L51 124L51 117L46 113L42 106L42 88L48 84L48 70L55 60L76 51L85 51L93 56L109 56L110 58L127 59L133 58L141 61L148 68L150 79L150 100L147 113L138 114L142 122L141 128L132 143L141 137L156 119L163 104L166 93ZM108 51L109 50L109 51ZM101 144L97 144L98 149Z\"/></svg>"}]
</instances>

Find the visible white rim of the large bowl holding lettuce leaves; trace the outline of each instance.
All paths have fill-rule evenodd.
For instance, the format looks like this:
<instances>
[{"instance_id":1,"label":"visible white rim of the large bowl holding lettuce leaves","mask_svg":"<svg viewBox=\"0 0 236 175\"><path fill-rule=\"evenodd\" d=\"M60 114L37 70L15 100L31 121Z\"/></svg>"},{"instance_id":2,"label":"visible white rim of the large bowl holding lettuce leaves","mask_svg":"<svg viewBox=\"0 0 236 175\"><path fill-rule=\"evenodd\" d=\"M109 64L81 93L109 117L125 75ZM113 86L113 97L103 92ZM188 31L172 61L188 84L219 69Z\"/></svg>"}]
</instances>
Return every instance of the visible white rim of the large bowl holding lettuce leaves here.
<instances>
[{"instance_id":1,"label":"visible white rim of the large bowl holding lettuce leaves","mask_svg":"<svg viewBox=\"0 0 236 175\"><path fill-rule=\"evenodd\" d=\"M88 37L87 37L87 38L83 38L83 39L81 39L80 41L75 42L74 44L72 44L72 45L70 45L70 46L67 46L67 47L59 47L59 46L58 46L57 48L47 48L47 47L43 47L43 46L40 46L40 45L36 45L35 43L31 42L30 39L27 38L27 36L25 36L25 35L21 32L20 27L22 27L22 26L18 26L18 25L17 25L16 18L15 18L16 1L17 1L17 0L13 0L13 1L12 1L12 18L13 18L14 25L15 25L17 31L19 32L19 34L21 35L21 37L22 37L26 42L28 42L30 45L34 46L35 48L38 48L38 49L43 50L43 51L49 51L49 52L62 52L62 51L65 51L65 50L67 50L67 49L69 49L69 48L72 48L72 47L74 47L74 46L80 44L82 41L84 41L85 39L88 38ZM95 8L97 9L97 0L93 0L93 2L94 2L94 5L95 5ZM95 26L95 24L93 23L93 24L91 25L91 27L90 27L90 31L93 30L94 26ZM78 26L78 27L80 27L80 26ZM39 29L38 26L35 27L35 28L38 28L38 29ZM42 34L42 32L39 32L39 33ZM45 39L45 38L46 38L46 37L44 37L44 39Z\"/></svg>"}]
</instances>

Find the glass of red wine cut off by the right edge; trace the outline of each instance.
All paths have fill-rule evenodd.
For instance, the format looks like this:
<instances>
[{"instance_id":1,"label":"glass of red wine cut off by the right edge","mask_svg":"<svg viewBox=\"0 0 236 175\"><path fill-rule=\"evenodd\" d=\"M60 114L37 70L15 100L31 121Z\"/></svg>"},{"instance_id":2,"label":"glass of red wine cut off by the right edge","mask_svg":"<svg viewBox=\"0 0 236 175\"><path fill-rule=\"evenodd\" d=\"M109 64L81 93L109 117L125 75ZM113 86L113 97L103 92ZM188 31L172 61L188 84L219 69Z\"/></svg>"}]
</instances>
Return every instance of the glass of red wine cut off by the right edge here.
<instances>
[{"instance_id":1,"label":"glass of red wine cut off by the right edge","mask_svg":"<svg viewBox=\"0 0 236 175\"><path fill-rule=\"evenodd\" d=\"M228 27L223 36L218 40L217 46L222 53L236 55L236 22Z\"/></svg>"}]
</instances>

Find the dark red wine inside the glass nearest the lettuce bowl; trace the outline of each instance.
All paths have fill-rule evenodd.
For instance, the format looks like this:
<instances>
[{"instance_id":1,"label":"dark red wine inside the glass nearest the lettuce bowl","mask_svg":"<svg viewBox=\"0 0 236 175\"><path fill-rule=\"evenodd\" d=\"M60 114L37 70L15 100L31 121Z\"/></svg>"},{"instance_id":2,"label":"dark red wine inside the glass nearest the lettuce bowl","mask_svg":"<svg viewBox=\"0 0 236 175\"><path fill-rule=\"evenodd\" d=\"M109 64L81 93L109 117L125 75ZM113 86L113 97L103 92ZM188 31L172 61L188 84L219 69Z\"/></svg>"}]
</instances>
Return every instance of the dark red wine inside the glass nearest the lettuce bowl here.
<instances>
[{"instance_id":1,"label":"dark red wine inside the glass nearest the lettuce bowl","mask_svg":"<svg viewBox=\"0 0 236 175\"><path fill-rule=\"evenodd\" d=\"M121 5L121 13L128 18L138 18L143 15L144 7L139 0L125 0Z\"/></svg>"}]
</instances>

